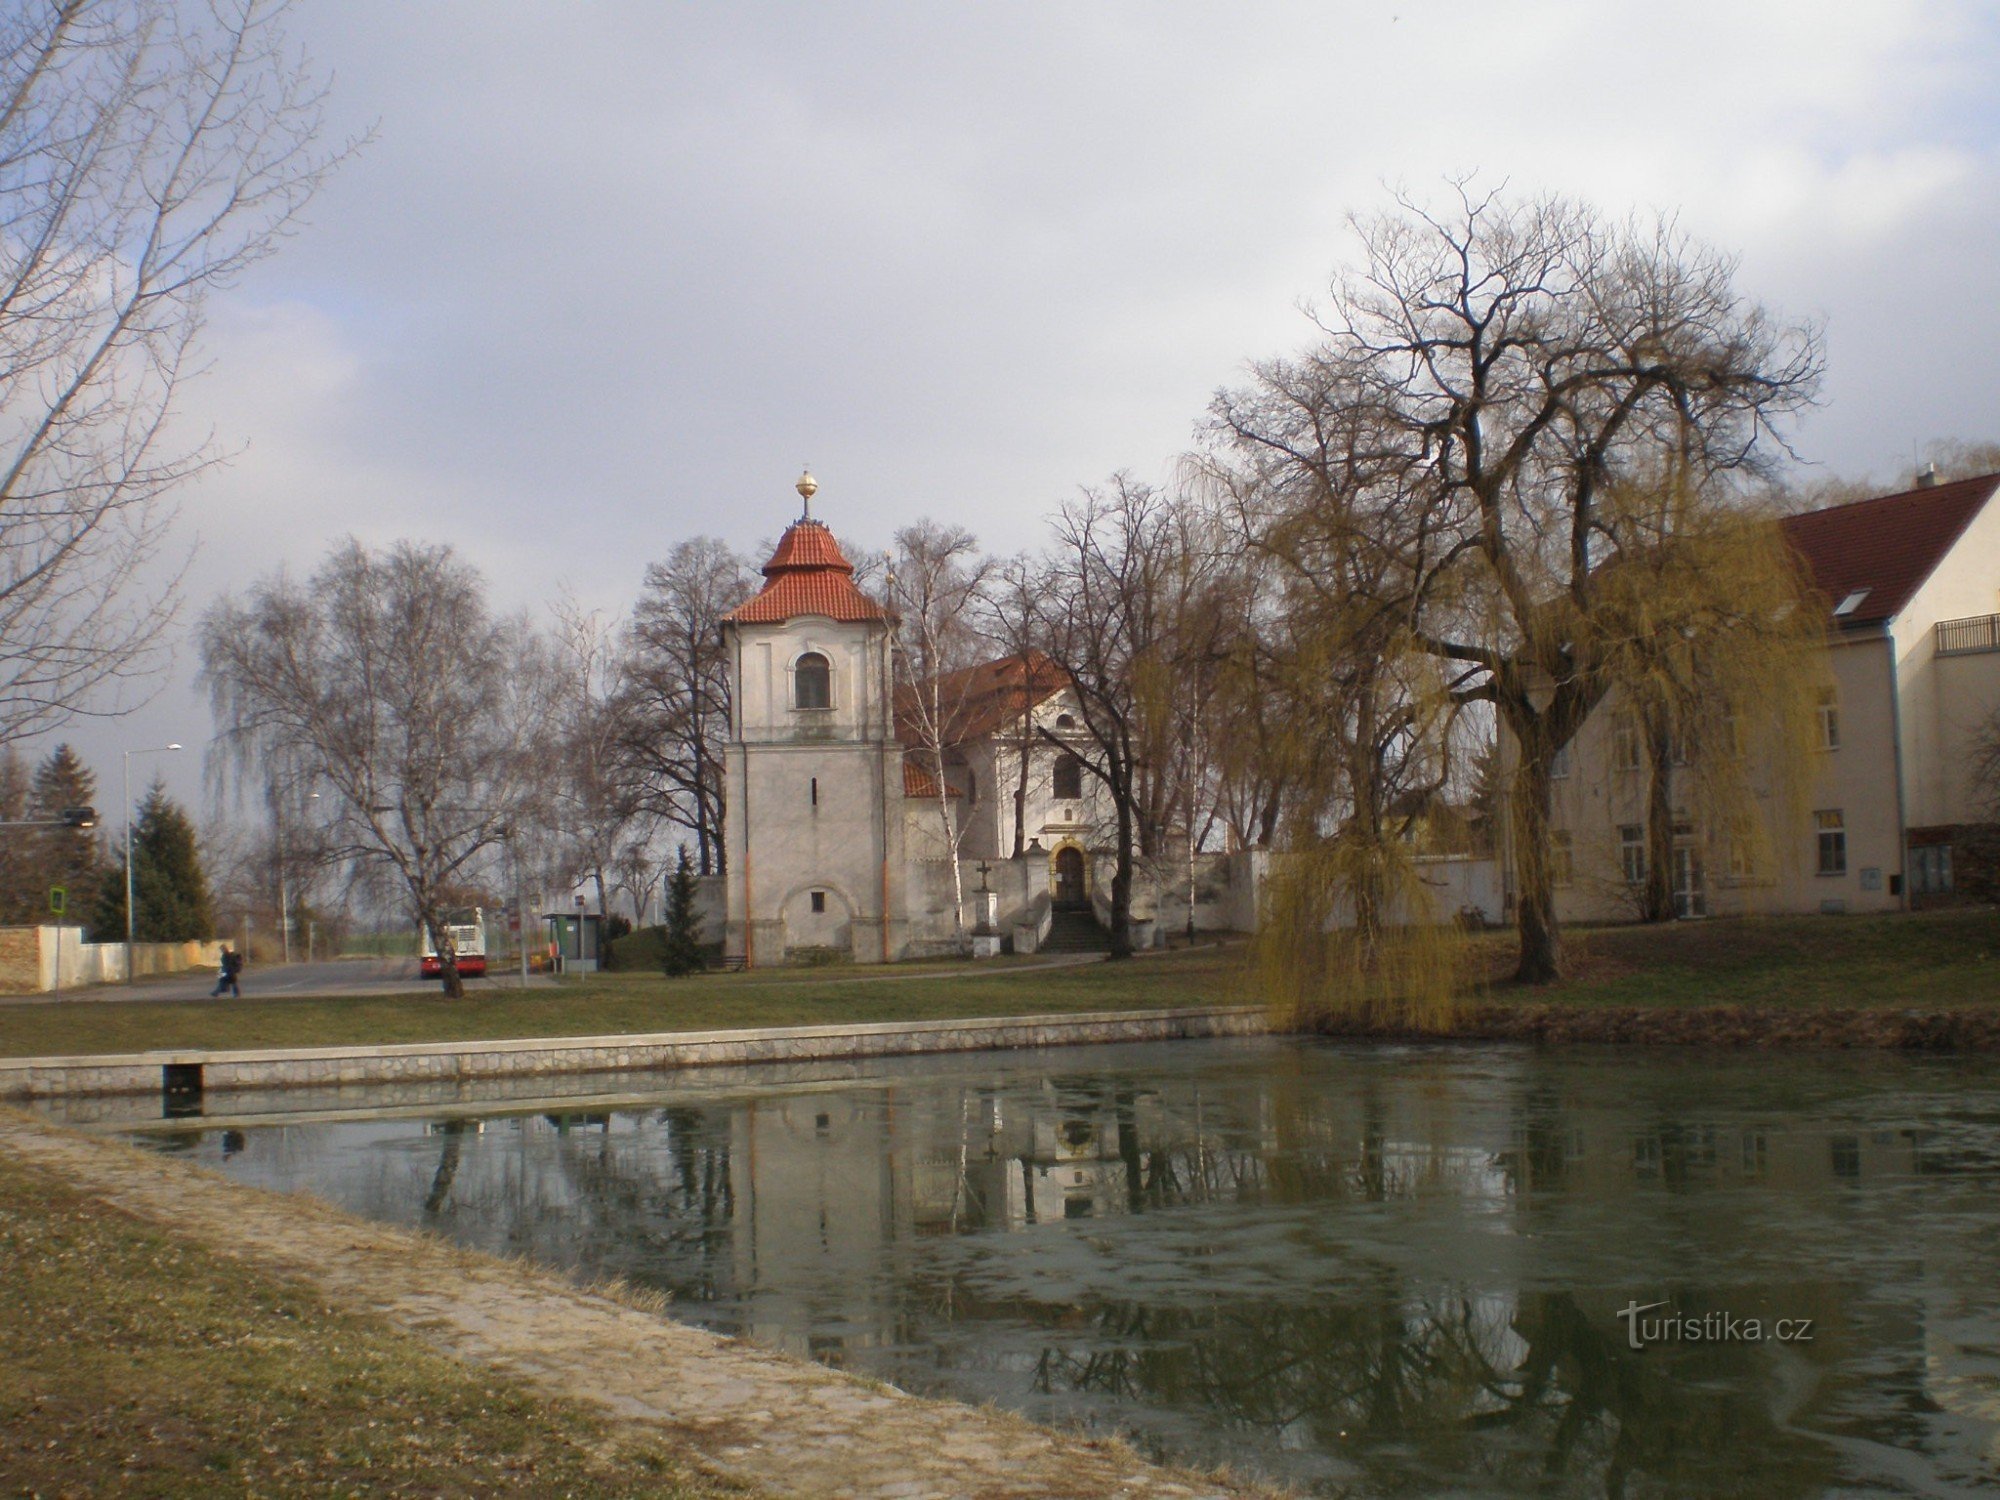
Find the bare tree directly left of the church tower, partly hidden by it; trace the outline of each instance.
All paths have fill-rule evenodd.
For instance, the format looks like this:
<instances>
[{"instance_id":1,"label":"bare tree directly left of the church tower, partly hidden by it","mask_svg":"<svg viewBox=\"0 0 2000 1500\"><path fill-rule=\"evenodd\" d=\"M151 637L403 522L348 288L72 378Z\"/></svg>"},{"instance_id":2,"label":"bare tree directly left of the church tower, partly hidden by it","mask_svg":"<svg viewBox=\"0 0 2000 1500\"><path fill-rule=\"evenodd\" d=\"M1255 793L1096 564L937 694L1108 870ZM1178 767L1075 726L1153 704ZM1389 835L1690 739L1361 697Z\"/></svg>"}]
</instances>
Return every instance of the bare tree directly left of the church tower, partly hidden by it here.
<instances>
[{"instance_id":1,"label":"bare tree directly left of the church tower, partly hidden by it","mask_svg":"<svg viewBox=\"0 0 2000 1500\"><path fill-rule=\"evenodd\" d=\"M724 874L722 746L730 662L722 616L750 596L750 568L712 536L646 568L626 638L624 758L646 806L694 834L702 874Z\"/></svg>"}]
</instances>

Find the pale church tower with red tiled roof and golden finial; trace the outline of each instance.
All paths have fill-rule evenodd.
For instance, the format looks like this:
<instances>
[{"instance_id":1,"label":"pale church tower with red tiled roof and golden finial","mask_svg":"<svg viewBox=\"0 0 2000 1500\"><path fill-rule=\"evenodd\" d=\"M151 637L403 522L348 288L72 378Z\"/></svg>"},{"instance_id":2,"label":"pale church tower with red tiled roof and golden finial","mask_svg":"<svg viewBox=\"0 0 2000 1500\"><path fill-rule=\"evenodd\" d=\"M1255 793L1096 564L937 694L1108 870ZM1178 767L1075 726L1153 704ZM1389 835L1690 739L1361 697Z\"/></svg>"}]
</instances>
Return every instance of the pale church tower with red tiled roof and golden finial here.
<instances>
[{"instance_id":1,"label":"pale church tower with red tiled roof and golden finial","mask_svg":"<svg viewBox=\"0 0 2000 1500\"><path fill-rule=\"evenodd\" d=\"M812 518L816 490L802 474L804 514L764 564L764 588L722 616L724 952L750 966L822 952L888 962L906 940L892 620Z\"/></svg>"}]
</instances>

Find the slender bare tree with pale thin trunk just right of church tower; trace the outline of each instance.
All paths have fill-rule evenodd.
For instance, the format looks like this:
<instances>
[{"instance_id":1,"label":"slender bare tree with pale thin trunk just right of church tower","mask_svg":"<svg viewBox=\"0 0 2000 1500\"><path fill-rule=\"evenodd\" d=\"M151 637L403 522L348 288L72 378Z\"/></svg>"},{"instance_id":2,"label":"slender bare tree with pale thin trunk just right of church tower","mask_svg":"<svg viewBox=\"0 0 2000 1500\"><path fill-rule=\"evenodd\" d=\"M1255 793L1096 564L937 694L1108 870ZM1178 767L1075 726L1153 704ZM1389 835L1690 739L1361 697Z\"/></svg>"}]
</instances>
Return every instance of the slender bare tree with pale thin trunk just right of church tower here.
<instances>
[{"instance_id":1,"label":"slender bare tree with pale thin trunk just right of church tower","mask_svg":"<svg viewBox=\"0 0 2000 1500\"><path fill-rule=\"evenodd\" d=\"M916 742L936 786L938 834L952 866L952 932L966 936L966 886L958 868L964 820L952 816L946 756L964 734L964 716L980 636L978 600L992 564L964 526L920 520L896 532L888 568L888 604L896 612L898 728Z\"/></svg>"}]
</instances>

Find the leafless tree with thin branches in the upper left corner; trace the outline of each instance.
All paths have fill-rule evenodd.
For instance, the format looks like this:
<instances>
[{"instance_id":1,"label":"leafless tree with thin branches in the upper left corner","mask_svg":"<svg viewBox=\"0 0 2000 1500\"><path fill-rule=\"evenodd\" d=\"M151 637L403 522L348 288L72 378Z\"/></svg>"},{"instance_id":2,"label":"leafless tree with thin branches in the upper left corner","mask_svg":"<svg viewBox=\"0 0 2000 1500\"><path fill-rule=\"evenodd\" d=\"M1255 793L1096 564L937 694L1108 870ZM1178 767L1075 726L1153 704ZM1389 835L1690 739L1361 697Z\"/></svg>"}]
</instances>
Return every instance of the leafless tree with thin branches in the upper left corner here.
<instances>
[{"instance_id":1,"label":"leafless tree with thin branches in the upper left corner","mask_svg":"<svg viewBox=\"0 0 2000 1500\"><path fill-rule=\"evenodd\" d=\"M340 152L286 0L50 0L0 20L0 740L150 664L166 434L204 306L270 254Z\"/></svg>"}]
</instances>

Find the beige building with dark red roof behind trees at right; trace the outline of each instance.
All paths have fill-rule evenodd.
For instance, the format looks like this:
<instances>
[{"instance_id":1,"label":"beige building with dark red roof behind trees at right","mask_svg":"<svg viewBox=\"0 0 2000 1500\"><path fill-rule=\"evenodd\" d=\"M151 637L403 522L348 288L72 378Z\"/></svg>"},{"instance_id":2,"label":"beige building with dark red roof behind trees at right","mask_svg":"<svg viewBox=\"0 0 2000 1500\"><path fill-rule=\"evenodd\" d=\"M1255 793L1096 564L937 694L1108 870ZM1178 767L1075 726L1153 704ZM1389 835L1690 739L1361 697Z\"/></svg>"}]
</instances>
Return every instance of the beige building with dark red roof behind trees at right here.
<instances>
[{"instance_id":1,"label":"beige building with dark red roof behind trees at right","mask_svg":"<svg viewBox=\"0 0 2000 1500\"><path fill-rule=\"evenodd\" d=\"M1830 610L1806 826L1752 840L1682 820L1692 798L1678 782L1692 770L1676 770L1682 916L1898 910L1950 900L1964 884L1992 820L1974 752L2000 714L1996 492L2000 474L1782 522ZM1568 746L1552 800L1558 918L1636 916L1646 772L1616 702ZM1758 856L1758 842L1776 844L1774 856Z\"/></svg>"}]
</instances>

